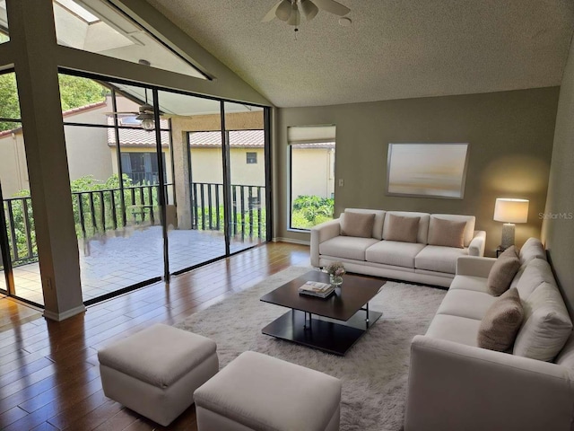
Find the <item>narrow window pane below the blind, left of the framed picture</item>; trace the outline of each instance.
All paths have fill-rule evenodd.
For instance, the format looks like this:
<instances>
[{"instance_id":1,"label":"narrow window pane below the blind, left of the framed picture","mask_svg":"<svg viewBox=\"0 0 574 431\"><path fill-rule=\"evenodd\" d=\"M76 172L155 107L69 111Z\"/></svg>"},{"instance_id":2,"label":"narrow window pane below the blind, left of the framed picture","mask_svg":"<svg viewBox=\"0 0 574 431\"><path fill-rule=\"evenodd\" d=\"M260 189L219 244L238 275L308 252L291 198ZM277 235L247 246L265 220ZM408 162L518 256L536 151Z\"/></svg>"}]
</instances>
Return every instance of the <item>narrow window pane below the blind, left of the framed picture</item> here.
<instances>
[{"instance_id":1,"label":"narrow window pane below the blind, left of the framed picture","mask_svg":"<svg viewBox=\"0 0 574 431\"><path fill-rule=\"evenodd\" d=\"M335 126L289 128L290 228L308 230L333 219Z\"/></svg>"}]
</instances>

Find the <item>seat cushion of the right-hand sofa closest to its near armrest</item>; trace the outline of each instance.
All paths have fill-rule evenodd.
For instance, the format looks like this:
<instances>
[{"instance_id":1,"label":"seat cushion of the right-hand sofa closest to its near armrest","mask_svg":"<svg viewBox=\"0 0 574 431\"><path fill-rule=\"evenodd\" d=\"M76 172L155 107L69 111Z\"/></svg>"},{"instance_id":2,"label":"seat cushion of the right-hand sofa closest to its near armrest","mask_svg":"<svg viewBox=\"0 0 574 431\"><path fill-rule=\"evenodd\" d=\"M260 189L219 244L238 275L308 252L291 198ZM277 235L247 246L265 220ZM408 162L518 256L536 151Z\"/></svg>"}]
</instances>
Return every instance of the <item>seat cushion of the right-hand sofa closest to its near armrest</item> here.
<instances>
[{"instance_id":1,"label":"seat cushion of the right-hand sofa closest to its near armrest","mask_svg":"<svg viewBox=\"0 0 574 431\"><path fill-rule=\"evenodd\" d=\"M467 317L436 314L426 335L433 339L446 339L466 346L477 347L478 329L481 321Z\"/></svg>"}]
</instances>

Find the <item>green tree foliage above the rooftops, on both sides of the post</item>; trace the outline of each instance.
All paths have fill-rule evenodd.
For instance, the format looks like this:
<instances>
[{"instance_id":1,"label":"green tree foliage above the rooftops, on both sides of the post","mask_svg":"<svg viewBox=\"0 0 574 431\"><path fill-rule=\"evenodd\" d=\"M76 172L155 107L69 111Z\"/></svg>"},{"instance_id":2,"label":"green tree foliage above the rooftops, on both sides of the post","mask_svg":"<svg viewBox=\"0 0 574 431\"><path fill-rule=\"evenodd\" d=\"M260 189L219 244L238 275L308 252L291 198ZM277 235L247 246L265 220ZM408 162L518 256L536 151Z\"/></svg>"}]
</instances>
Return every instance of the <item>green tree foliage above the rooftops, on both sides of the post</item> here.
<instances>
[{"instance_id":1,"label":"green tree foliage above the rooftops, on both sides of the post","mask_svg":"<svg viewBox=\"0 0 574 431\"><path fill-rule=\"evenodd\" d=\"M72 75L58 75L62 110L103 101L108 89L91 79ZM20 119L20 103L14 73L0 75L0 118ZM19 127L18 123L0 122L0 131Z\"/></svg>"}]
</instances>

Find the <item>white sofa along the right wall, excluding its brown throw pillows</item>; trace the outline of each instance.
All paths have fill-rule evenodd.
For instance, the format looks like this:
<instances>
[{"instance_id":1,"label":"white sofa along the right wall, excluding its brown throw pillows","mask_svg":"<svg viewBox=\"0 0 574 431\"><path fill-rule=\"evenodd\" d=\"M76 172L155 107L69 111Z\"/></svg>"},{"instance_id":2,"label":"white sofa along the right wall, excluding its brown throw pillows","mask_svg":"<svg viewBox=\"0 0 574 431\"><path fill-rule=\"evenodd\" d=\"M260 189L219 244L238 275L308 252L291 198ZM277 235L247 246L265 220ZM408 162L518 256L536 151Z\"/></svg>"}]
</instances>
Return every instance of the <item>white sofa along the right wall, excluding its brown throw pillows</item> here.
<instances>
[{"instance_id":1,"label":"white sofa along the right wall, excluding its brown throw pillows","mask_svg":"<svg viewBox=\"0 0 574 431\"><path fill-rule=\"evenodd\" d=\"M525 309L509 353L477 347L484 313L496 297L488 293L492 258L458 259L457 276L424 336L411 346L405 431L574 429L574 339L571 322L542 244L532 238L520 251L520 269L511 283ZM541 290L542 289L542 290ZM564 321L560 328L533 329L532 316ZM556 325L556 323L553 323ZM549 361L540 347L527 346L532 334L552 341L560 353ZM566 345L561 348L564 340ZM525 345L526 342L526 345ZM525 357L525 348L530 348ZM545 355L552 355L546 351Z\"/></svg>"}]
</instances>

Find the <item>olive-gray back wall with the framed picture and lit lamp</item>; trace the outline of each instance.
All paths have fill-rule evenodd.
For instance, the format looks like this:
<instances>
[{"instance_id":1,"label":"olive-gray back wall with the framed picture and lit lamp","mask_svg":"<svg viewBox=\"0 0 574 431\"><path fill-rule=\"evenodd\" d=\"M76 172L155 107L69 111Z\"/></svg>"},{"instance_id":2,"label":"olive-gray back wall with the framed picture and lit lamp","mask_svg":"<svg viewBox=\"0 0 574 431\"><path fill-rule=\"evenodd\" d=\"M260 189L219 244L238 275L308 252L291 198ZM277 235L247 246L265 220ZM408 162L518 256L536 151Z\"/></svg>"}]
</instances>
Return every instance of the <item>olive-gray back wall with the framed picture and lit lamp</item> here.
<instances>
[{"instance_id":1,"label":"olive-gray back wall with the framed picture and lit lamp","mask_svg":"<svg viewBox=\"0 0 574 431\"><path fill-rule=\"evenodd\" d=\"M335 215L345 207L465 214L487 232L486 254L500 244L492 220L496 198L530 200L528 223L517 224L517 244L540 236L559 87L460 96L352 103L277 110L275 238L308 242L287 229L287 128L335 124ZM386 196L388 143L468 142L465 198ZM297 175L297 172L293 172ZM344 186L338 187L338 180Z\"/></svg>"}]
</instances>

